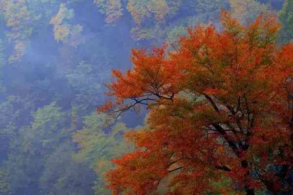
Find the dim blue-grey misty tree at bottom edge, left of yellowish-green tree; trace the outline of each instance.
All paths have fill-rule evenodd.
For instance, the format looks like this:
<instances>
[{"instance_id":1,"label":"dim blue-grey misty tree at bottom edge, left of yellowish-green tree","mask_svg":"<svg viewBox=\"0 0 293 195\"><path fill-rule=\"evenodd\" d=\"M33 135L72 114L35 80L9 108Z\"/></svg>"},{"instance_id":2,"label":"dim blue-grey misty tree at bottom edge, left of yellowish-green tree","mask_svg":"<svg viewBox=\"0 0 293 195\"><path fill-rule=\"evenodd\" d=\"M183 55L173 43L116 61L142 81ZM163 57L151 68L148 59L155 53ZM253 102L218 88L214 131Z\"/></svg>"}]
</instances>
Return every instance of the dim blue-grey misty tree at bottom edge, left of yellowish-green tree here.
<instances>
[{"instance_id":1,"label":"dim blue-grey misty tree at bottom edge, left of yellowish-green tree","mask_svg":"<svg viewBox=\"0 0 293 195\"><path fill-rule=\"evenodd\" d=\"M91 195L95 174L86 161L75 163L75 147L63 142L44 162L40 177L43 195Z\"/></svg>"}]
</instances>

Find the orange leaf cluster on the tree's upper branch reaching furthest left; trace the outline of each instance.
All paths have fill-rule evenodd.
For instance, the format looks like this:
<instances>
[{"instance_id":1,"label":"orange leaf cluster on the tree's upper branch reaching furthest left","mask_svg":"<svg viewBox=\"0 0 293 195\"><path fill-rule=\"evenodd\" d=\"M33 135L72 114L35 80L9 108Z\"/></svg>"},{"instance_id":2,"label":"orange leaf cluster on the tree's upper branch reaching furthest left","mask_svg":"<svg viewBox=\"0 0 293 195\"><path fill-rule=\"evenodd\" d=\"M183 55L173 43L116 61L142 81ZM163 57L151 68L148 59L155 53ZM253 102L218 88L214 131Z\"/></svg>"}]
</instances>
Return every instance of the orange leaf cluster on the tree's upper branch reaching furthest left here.
<instances>
[{"instance_id":1,"label":"orange leaf cluster on the tree's upper branch reaching furthest left","mask_svg":"<svg viewBox=\"0 0 293 195\"><path fill-rule=\"evenodd\" d=\"M178 70L175 70L165 59L165 49L166 46L153 48L150 53L146 53L145 49L133 49L131 56L133 69L127 71L125 75L121 71L112 71L117 82L107 86L110 89L108 95L115 96L116 100L107 102L99 110L109 110L113 106L120 106L119 109L124 110L129 106L135 108L139 104L148 104L156 98L171 99L176 89L170 83L174 81L176 77L174 72ZM136 104L124 104L127 99L136 101Z\"/></svg>"}]
</instances>

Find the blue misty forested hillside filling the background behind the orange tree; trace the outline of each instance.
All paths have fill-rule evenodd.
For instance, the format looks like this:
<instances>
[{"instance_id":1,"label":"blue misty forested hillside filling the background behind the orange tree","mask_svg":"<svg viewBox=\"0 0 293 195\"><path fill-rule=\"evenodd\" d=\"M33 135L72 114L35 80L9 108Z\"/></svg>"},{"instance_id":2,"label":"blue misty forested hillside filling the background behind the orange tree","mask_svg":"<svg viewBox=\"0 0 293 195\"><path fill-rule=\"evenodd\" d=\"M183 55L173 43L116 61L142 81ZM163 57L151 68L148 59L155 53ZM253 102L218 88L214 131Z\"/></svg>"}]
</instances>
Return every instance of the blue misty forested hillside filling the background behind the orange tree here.
<instances>
[{"instance_id":1,"label":"blue misty forested hillside filling the background behind the orange tree","mask_svg":"<svg viewBox=\"0 0 293 195\"><path fill-rule=\"evenodd\" d=\"M110 194L104 173L133 149L123 134L147 115L142 107L108 125L96 112L111 70L131 69L132 48L220 28L222 8L244 22L283 5L246 0L238 13L233 0L161 1L166 13L153 0L0 0L0 195Z\"/></svg>"}]
</instances>

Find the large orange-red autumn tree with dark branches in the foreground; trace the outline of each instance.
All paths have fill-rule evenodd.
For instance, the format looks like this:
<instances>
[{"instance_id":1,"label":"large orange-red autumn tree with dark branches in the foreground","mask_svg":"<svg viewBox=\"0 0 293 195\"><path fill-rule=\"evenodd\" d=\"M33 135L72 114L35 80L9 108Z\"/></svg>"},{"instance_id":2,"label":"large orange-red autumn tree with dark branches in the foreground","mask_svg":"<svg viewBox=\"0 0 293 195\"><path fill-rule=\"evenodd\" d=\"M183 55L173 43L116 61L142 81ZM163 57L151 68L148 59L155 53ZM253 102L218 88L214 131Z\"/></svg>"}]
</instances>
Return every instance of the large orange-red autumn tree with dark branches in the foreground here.
<instances>
[{"instance_id":1,"label":"large orange-red autumn tree with dark branches in the foreground","mask_svg":"<svg viewBox=\"0 0 293 195\"><path fill-rule=\"evenodd\" d=\"M191 28L169 53L133 49L133 68L113 71L98 111L149 110L148 127L126 133L137 149L107 174L113 195L155 194L170 177L167 195L210 194L227 178L235 193L292 192L293 45L276 48L272 15L248 26L221 15L222 31Z\"/></svg>"}]
</instances>

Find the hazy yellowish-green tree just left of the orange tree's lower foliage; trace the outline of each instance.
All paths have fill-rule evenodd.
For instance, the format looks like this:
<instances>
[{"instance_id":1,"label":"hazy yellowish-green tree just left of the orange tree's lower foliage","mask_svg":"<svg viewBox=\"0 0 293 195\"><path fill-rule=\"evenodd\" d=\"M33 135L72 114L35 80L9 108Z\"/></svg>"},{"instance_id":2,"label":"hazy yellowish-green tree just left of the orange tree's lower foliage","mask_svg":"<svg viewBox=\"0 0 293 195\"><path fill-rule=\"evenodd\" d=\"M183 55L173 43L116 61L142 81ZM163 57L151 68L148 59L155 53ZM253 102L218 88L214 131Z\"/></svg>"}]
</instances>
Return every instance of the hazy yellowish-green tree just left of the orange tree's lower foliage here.
<instances>
[{"instance_id":1,"label":"hazy yellowish-green tree just left of the orange tree's lower foliage","mask_svg":"<svg viewBox=\"0 0 293 195\"><path fill-rule=\"evenodd\" d=\"M125 124L118 123L107 132L105 131L105 125L111 120L106 114L92 113L84 117L84 128L76 132L73 137L80 148L79 152L74 155L74 160L76 162L88 161L92 170L97 174L95 182L97 195L110 194L109 190L105 188L104 174L113 167L111 159L118 158L132 150L132 146L123 138L123 134L129 131Z\"/></svg>"}]
</instances>

